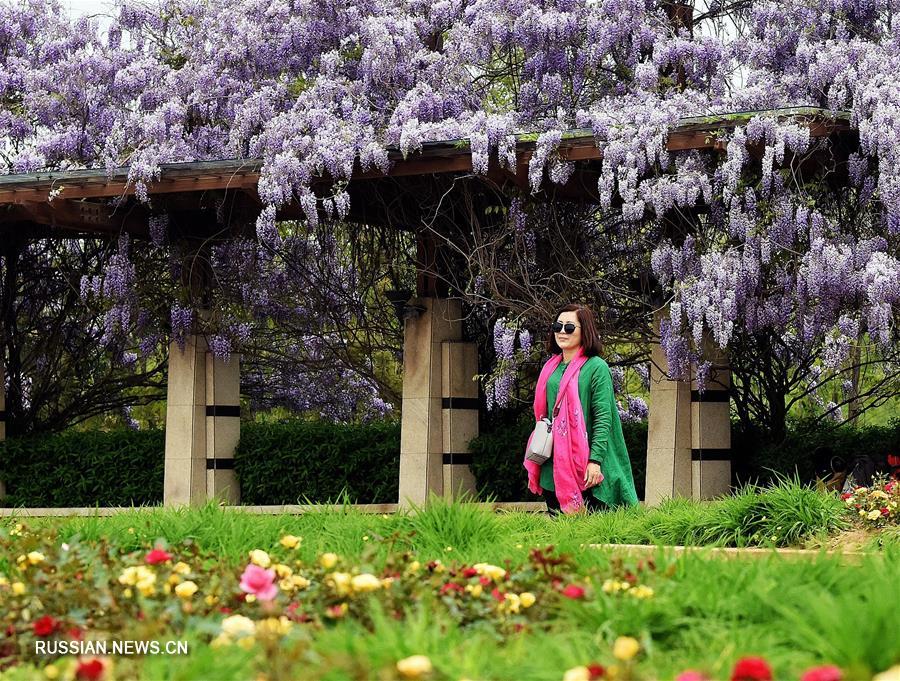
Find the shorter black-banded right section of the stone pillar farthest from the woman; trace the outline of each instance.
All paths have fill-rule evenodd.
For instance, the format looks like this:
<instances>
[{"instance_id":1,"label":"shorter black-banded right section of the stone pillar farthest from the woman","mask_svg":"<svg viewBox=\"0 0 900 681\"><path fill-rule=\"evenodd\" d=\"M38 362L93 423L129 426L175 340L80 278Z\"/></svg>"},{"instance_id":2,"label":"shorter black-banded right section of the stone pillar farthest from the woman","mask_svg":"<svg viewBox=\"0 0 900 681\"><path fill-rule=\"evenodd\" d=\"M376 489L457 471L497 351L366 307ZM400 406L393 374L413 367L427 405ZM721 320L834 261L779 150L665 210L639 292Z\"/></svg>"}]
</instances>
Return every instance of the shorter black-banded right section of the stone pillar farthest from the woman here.
<instances>
[{"instance_id":1,"label":"shorter black-banded right section of the stone pillar farthest from the woman","mask_svg":"<svg viewBox=\"0 0 900 681\"><path fill-rule=\"evenodd\" d=\"M241 501L234 452L241 438L240 357L227 362L206 353L206 496Z\"/></svg>"}]
</instances>

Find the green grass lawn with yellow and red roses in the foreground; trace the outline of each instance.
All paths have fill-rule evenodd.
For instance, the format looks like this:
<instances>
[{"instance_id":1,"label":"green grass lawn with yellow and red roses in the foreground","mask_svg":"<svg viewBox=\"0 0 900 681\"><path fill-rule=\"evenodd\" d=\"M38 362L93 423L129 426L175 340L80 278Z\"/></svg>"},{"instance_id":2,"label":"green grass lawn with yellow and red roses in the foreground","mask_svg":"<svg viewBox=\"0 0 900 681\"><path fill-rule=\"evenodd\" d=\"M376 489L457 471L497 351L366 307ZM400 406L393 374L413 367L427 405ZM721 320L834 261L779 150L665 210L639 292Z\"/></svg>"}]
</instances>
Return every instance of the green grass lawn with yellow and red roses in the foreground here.
<instances>
[{"instance_id":1,"label":"green grass lawn with yellow and red roses in the foreground","mask_svg":"<svg viewBox=\"0 0 900 681\"><path fill-rule=\"evenodd\" d=\"M845 506L784 482L556 519L436 501L385 516L210 505L6 520L0 678L730 679L760 656L775 679L832 664L868 681L900 663L900 532L860 529ZM867 554L853 561L591 546L825 547L851 528ZM190 653L35 655L36 641L79 639Z\"/></svg>"}]
</instances>

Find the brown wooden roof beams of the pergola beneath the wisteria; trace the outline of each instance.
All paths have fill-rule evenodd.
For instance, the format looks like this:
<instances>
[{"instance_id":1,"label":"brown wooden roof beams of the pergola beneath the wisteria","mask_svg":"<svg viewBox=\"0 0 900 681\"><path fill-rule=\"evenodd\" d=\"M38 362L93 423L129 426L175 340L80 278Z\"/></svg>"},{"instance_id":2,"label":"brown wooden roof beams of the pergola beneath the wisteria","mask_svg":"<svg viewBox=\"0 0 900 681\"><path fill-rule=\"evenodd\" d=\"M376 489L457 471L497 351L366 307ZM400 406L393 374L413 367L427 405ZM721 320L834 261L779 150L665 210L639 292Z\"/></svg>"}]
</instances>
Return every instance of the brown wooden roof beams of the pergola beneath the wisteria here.
<instances>
[{"instance_id":1,"label":"brown wooden roof beams of the pergola beneath the wisteria","mask_svg":"<svg viewBox=\"0 0 900 681\"><path fill-rule=\"evenodd\" d=\"M670 151L724 150L717 133L733 129L759 114L801 122L809 126L814 138L853 132L847 112L808 107L739 112L681 119L670 131L666 147ZM513 184L527 190L528 163L534 153L536 139L536 134L520 135L516 146L516 172L500 168L492 158L488 178L501 185ZM596 162L603 156L592 132L585 129L564 134L559 153L565 160L582 162L579 164L581 167L593 164L595 175ZM351 184L386 178L402 183L403 178L472 172L471 149L465 140L427 143L420 152L408 157L397 149L389 149L388 155L391 168L387 174L378 170L364 171L357 165ZM261 207L256 193L261 166L259 159L164 164L159 179L148 186L148 193L151 197L160 198L196 196L212 191L237 193L252 205ZM323 177L321 182L328 184L331 179ZM581 186L588 185L582 183ZM596 183L592 186L595 187ZM573 194L570 198L575 198L579 191L576 187L570 192ZM52 201L49 200L51 192L55 193ZM147 213L131 198L134 193L135 187L128 181L128 168L112 172L88 169L0 175L0 232L11 225L30 223L81 232L109 233L124 229L144 234Z\"/></svg>"}]
</instances>

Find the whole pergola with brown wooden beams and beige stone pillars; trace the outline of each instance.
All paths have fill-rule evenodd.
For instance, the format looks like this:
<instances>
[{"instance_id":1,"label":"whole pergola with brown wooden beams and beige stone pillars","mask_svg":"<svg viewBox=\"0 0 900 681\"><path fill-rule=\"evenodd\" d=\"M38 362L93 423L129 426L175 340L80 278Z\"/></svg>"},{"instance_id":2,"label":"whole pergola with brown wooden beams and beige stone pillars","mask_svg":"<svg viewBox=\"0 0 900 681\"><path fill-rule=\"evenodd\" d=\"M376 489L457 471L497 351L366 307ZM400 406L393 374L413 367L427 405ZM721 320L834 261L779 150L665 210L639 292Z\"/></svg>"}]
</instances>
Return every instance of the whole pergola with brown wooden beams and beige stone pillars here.
<instances>
[{"instance_id":1,"label":"whole pergola with brown wooden beams and beige stone pillars","mask_svg":"<svg viewBox=\"0 0 900 681\"><path fill-rule=\"evenodd\" d=\"M855 148L858 143L846 114L794 108L685 118L670 130L666 147L724 151L720 133L759 113L802 122L812 137L830 138L840 148ZM473 174L472 152L465 141L425 144L406 157L391 149L387 173L363 170L357 164L348 186L348 219L416 231L411 199L422 192L450 191L453 180L460 177L476 185L484 183L486 190L490 184L491 192L498 188L528 191L536 138L518 137L515 172L492 157L486 175ZM559 154L574 163L575 172L565 185L549 187L542 194L547 200L598 202L603 151L591 131L566 133ZM166 164L148 193L156 210L169 213L179 238L200 243L212 233L217 238L239 236L253 229L263 205L257 194L261 165L258 159ZM317 182L327 186L333 179L323 176ZM232 216L224 236L214 208L222 201ZM112 237L124 232L147 238L149 217L147 206L135 197L127 168L0 176L0 234L4 237L12 232L35 239L79 234ZM302 213L296 205L285 206L278 214L279 219L298 217ZM404 326L401 504L424 502L430 493L472 490L467 443L478 434L478 389L471 380L478 373L475 344L463 337L460 301L441 290L433 239L420 235L418 246L417 290L408 303L420 313L406 319ZM714 381L701 394L690 382L669 380L658 346L653 347L652 359L646 501L674 495L709 498L726 492L731 481L727 362L717 363ZM0 377L2 372L0 366ZM2 385L0 439L5 437ZM170 347L166 504L202 503L212 497L239 502L233 459L240 437L239 395L237 358L228 363L216 359L200 335L189 337L183 350L175 344Z\"/></svg>"}]
</instances>

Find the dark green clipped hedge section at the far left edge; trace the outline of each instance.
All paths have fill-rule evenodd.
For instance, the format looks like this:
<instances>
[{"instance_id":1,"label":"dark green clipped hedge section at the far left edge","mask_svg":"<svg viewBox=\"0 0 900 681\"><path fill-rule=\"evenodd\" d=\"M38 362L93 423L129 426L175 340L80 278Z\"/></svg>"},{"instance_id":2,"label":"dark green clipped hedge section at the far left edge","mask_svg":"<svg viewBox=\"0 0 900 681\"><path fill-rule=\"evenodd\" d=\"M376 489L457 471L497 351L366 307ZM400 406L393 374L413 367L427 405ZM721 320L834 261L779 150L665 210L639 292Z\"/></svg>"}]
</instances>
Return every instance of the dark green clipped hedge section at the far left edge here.
<instances>
[{"instance_id":1,"label":"dark green clipped hedge section at the far left edge","mask_svg":"<svg viewBox=\"0 0 900 681\"><path fill-rule=\"evenodd\" d=\"M162 501L162 430L70 431L0 443L4 506L136 506Z\"/></svg>"}]
</instances>

